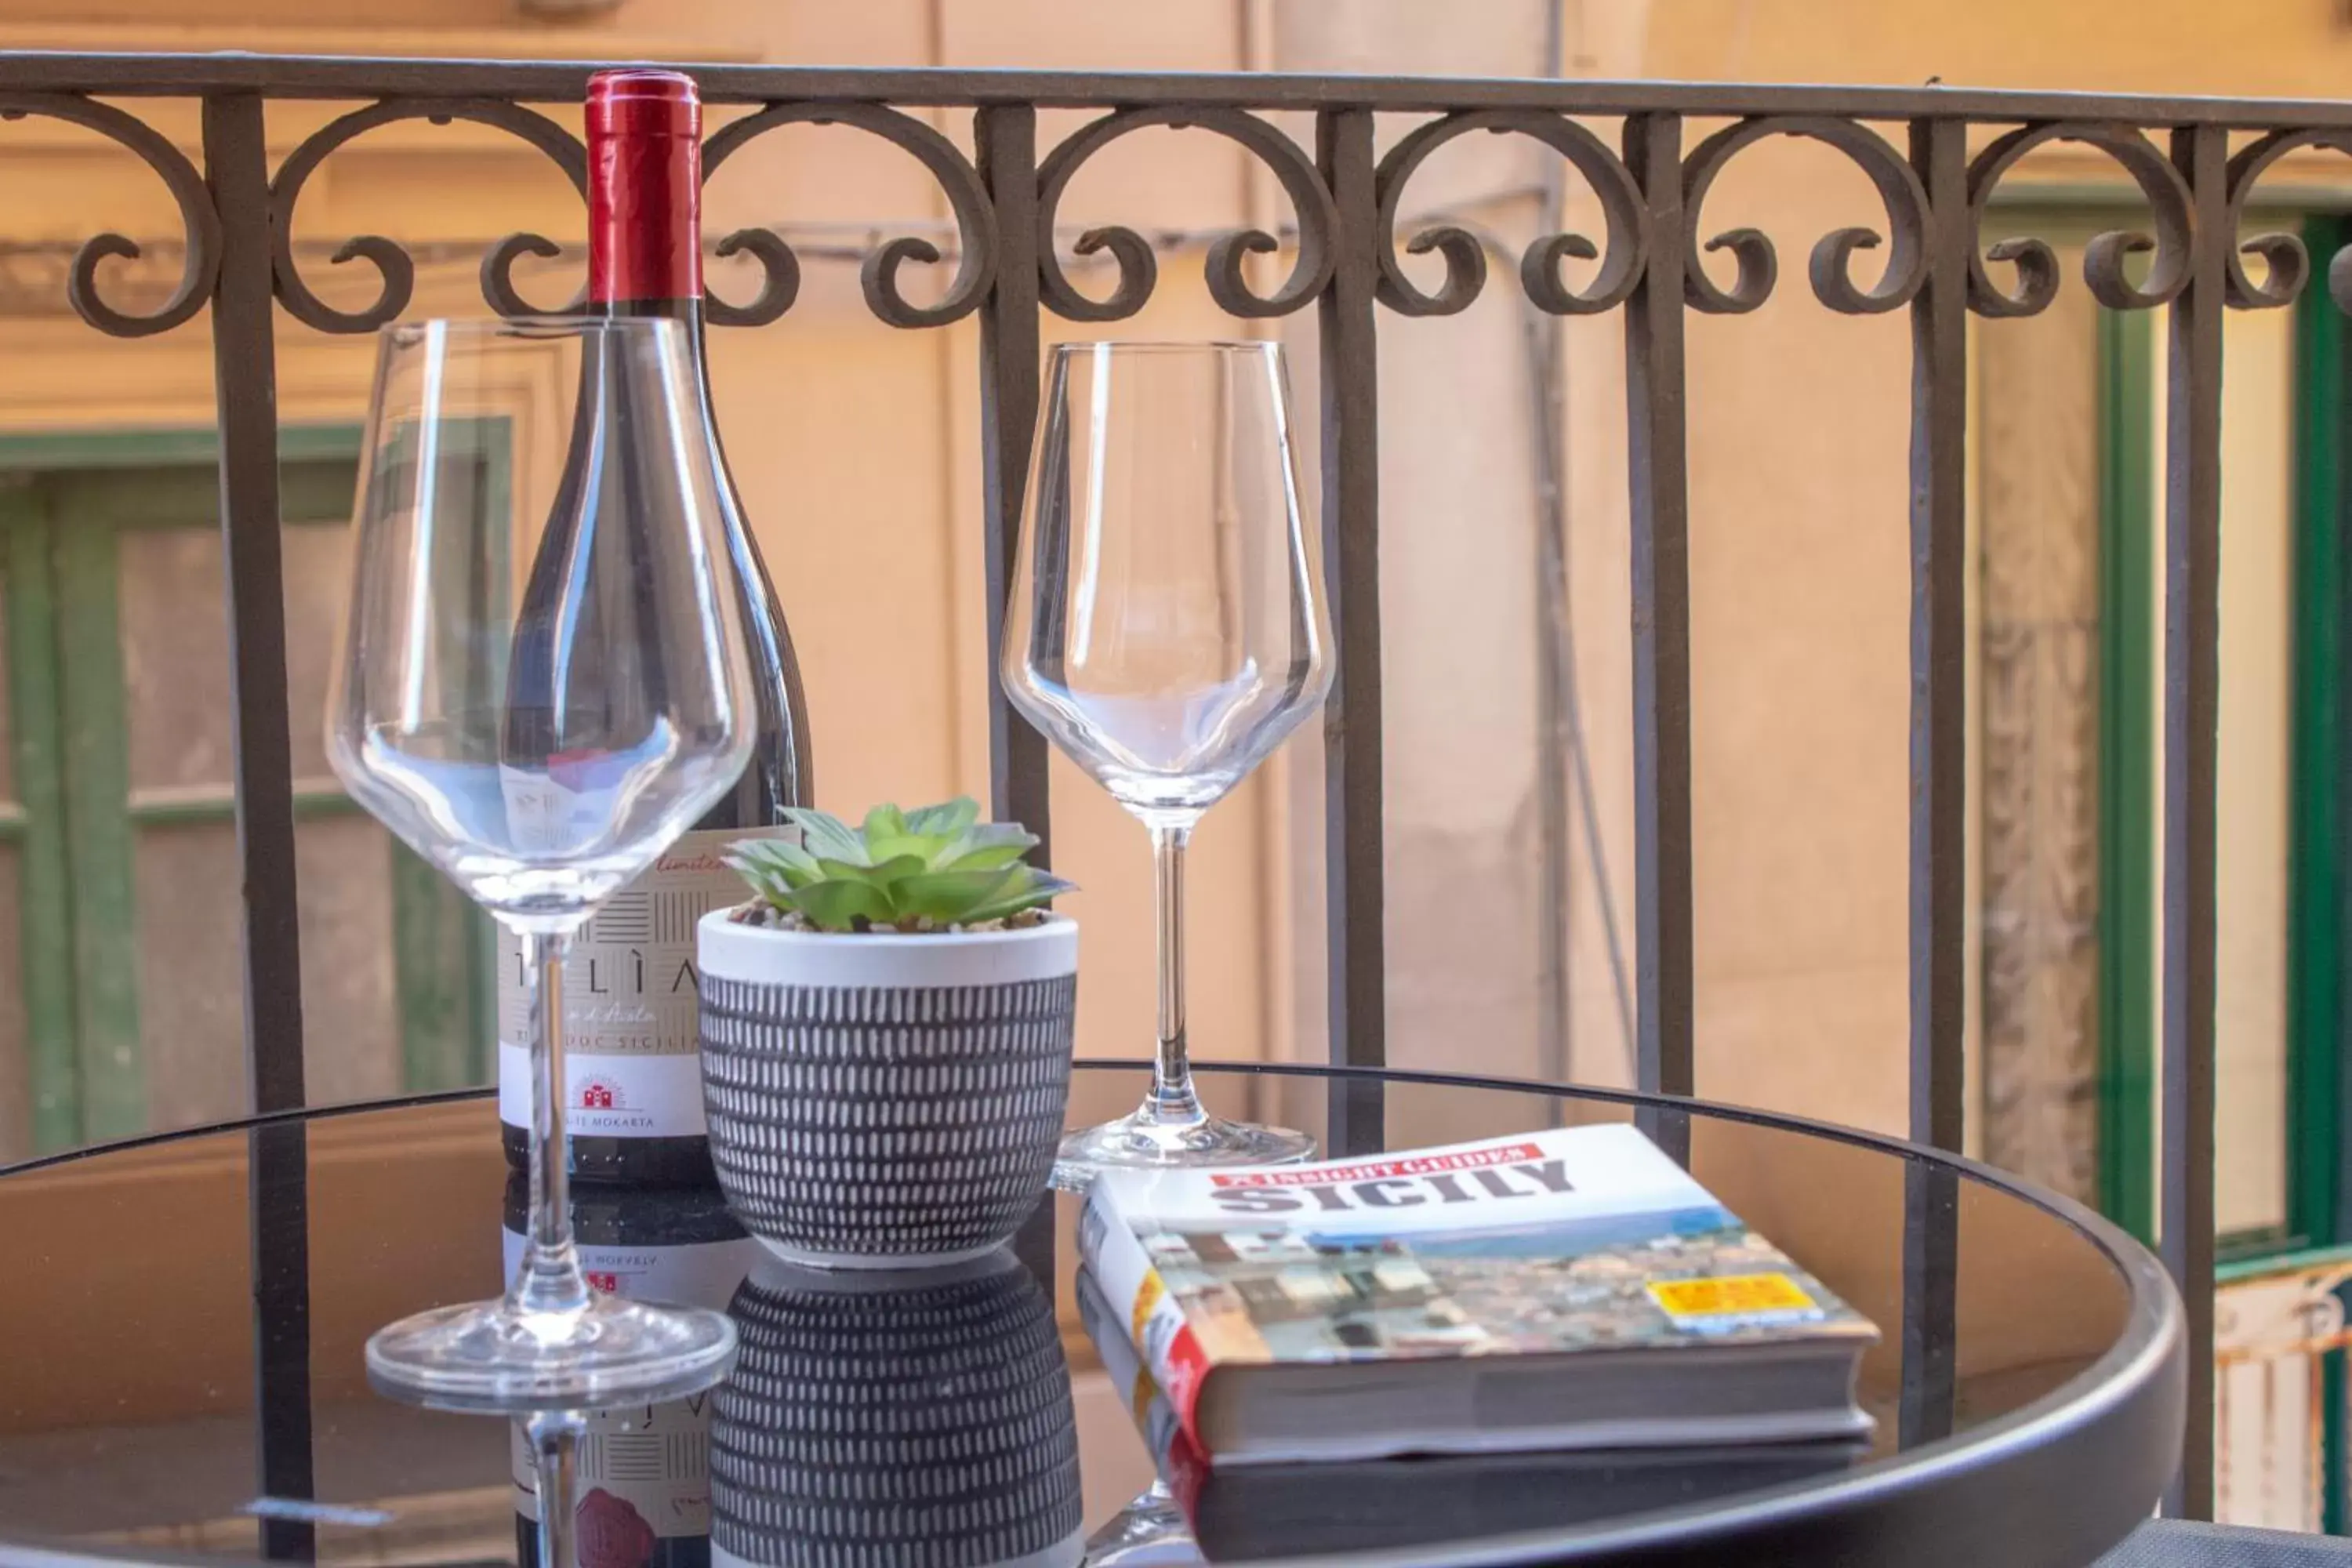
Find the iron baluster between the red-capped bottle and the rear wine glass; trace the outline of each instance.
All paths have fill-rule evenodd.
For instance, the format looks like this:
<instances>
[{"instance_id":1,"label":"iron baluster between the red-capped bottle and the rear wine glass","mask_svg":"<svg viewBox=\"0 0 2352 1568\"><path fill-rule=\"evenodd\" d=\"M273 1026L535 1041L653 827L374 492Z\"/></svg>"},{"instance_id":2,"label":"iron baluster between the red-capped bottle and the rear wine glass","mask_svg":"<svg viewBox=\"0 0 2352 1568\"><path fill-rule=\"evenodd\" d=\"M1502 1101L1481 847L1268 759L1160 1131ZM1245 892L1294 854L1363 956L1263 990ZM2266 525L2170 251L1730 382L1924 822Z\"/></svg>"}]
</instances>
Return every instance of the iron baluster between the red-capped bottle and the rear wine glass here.
<instances>
[{"instance_id":1,"label":"iron baluster between the red-capped bottle and the rear wine glass","mask_svg":"<svg viewBox=\"0 0 2352 1568\"><path fill-rule=\"evenodd\" d=\"M1044 736L1014 712L997 679L1004 602L1021 550L1021 489L1037 430L1037 110L1025 103L974 115L981 179L997 209L997 275L981 308L981 527L988 562L988 804L997 820L1025 823L1054 863Z\"/></svg>"}]
</instances>

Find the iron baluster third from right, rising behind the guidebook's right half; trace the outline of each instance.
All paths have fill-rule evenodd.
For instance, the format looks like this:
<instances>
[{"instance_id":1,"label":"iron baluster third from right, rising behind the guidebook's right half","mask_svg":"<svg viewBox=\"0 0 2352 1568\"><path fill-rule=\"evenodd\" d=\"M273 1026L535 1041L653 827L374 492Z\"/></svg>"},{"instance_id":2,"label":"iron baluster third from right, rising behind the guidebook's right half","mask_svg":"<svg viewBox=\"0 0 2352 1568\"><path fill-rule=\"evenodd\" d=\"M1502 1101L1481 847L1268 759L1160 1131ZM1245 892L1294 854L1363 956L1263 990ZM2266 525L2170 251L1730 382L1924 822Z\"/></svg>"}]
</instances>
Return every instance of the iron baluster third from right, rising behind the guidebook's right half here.
<instances>
[{"instance_id":1,"label":"iron baluster third from right, rising behind the guidebook's right half","mask_svg":"<svg viewBox=\"0 0 2352 1568\"><path fill-rule=\"evenodd\" d=\"M1682 115L1625 118L1649 263L1625 301L1632 484L1637 1077L1691 1093L1691 477L1684 461Z\"/></svg>"}]
</instances>

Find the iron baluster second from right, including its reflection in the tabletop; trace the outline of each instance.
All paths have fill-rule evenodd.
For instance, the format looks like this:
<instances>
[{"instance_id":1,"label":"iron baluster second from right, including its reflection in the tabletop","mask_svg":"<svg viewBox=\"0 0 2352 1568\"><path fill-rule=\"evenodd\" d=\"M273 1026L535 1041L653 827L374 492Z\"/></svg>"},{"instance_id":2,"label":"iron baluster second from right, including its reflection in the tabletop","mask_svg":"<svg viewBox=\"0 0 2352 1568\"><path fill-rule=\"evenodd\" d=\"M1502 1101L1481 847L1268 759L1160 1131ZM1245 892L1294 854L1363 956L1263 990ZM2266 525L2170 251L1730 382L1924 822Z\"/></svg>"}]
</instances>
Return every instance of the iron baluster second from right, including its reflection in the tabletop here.
<instances>
[{"instance_id":1,"label":"iron baluster second from right, including its reflection in the tabletop","mask_svg":"<svg viewBox=\"0 0 2352 1568\"><path fill-rule=\"evenodd\" d=\"M1919 120L1926 284L1912 299L1910 1135L1959 1152L1966 1060L1969 127ZM1905 1448L1952 1432L1959 1178L1903 1171Z\"/></svg>"}]
</instances>

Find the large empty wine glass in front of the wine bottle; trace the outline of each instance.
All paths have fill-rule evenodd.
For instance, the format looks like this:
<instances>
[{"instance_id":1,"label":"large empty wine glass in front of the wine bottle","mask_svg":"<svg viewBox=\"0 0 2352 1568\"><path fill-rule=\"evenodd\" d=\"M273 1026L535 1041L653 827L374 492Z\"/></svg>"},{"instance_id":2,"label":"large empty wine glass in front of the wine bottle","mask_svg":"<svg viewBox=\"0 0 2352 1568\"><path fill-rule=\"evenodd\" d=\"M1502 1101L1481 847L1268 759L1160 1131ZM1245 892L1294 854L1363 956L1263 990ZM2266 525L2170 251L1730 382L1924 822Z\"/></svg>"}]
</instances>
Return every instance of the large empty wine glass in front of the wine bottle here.
<instances>
[{"instance_id":1,"label":"large empty wine glass in front of the wine bottle","mask_svg":"<svg viewBox=\"0 0 2352 1568\"><path fill-rule=\"evenodd\" d=\"M560 1107L564 945L753 743L699 388L670 320L414 322L379 341L327 755L536 976L529 1246L503 1300L367 1342L393 1394L609 1406L691 1392L734 1356L717 1312L588 1288Z\"/></svg>"}]
</instances>

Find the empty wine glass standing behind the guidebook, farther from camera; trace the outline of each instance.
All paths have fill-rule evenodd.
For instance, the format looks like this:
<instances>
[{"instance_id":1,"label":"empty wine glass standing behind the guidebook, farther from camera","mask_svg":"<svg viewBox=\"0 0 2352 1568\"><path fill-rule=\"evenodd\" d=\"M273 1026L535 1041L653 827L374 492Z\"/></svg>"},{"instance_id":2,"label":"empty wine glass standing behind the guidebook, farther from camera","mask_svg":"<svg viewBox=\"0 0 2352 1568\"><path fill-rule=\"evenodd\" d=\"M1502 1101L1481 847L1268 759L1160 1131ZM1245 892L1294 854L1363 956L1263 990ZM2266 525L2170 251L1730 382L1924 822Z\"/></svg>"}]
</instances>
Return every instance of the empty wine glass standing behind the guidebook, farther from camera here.
<instances>
[{"instance_id":1,"label":"empty wine glass standing behind the guidebook, farther from camera","mask_svg":"<svg viewBox=\"0 0 2352 1568\"><path fill-rule=\"evenodd\" d=\"M1298 496L1277 343L1054 350L1004 616L1004 691L1152 835L1160 1032L1152 1088L1070 1133L1056 1180L1108 1166L1308 1159L1192 1088L1183 849L1331 686L1315 529Z\"/></svg>"}]
</instances>

